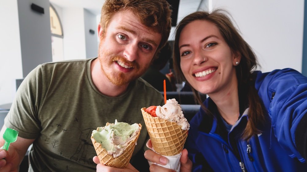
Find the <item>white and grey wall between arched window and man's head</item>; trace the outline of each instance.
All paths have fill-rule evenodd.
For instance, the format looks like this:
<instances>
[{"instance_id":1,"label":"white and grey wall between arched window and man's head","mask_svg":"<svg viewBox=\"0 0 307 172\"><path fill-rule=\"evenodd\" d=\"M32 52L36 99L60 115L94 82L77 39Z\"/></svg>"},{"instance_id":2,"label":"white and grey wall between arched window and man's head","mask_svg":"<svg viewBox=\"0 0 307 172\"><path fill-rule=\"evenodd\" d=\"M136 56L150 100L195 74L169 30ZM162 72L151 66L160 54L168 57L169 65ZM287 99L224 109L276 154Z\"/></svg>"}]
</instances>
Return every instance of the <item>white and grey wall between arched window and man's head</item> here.
<instances>
[{"instance_id":1,"label":"white and grey wall between arched window and man's head","mask_svg":"<svg viewBox=\"0 0 307 172\"><path fill-rule=\"evenodd\" d=\"M60 7L54 3L52 6L63 27L64 60L97 57L97 16L84 8ZM95 34L90 34L89 29Z\"/></svg>"}]
</instances>

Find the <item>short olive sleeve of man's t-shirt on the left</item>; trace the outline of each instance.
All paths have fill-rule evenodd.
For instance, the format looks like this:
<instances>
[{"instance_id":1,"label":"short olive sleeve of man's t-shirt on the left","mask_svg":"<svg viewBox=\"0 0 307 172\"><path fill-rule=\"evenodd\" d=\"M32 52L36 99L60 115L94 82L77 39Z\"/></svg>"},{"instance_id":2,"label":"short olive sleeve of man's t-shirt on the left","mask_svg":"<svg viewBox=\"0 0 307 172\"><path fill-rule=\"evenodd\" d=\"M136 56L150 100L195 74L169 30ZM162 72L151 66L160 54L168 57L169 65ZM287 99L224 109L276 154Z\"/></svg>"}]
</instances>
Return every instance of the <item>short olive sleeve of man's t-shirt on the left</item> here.
<instances>
[{"instance_id":1,"label":"short olive sleeve of man's t-shirt on the left","mask_svg":"<svg viewBox=\"0 0 307 172\"><path fill-rule=\"evenodd\" d=\"M19 86L11 109L4 124L16 129L18 136L25 139L35 139L41 127L38 120L39 104L42 97L41 65L33 69Z\"/></svg>"}]
</instances>

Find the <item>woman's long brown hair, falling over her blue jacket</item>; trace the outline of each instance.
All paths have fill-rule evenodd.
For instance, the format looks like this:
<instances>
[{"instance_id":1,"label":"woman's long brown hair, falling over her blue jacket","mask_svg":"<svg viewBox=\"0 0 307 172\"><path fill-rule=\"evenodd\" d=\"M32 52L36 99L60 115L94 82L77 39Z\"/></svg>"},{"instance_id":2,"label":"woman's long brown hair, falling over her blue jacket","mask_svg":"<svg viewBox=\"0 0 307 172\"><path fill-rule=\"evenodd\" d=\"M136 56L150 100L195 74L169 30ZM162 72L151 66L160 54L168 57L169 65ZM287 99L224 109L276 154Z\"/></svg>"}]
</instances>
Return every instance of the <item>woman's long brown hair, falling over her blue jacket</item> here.
<instances>
[{"instance_id":1,"label":"woman's long brown hair, falling over her blue jacket","mask_svg":"<svg viewBox=\"0 0 307 172\"><path fill-rule=\"evenodd\" d=\"M236 75L238 79L238 89L239 95L244 94L242 90L245 90L248 97L248 121L246 128L242 134L242 138L249 140L253 135L259 134L260 131L257 129L257 126L260 126L264 122L264 115L262 109L262 103L258 96L257 90L255 89L254 84L251 84L253 76L252 72L257 68L257 59L255 53L252 51L251 47L243 40L242 36L239 34L239 31L232 24L231 19L228 17L229 13L225 10L214 10L211 13L204 11L197 11L189 14L184 17L176 28L176 35L174 41L174 70L176 76L180 81L185 81L186 84L189 84L185 79L181 67L180 67L180 52L179 52L179 37L182 29L195 20L205 20L213 23L219 29L224 40L230 47L233 53L239 53L241 55L241 60L239 65L236 68ZM205 29L205 28L204 28ZM190 84L189 84L190 85ZM197 100L197 102L202 106L204 111L208 115L212 115L210 111L203 105L200 94L193 87L192 91Z\"/></svg>"}]
</instances>

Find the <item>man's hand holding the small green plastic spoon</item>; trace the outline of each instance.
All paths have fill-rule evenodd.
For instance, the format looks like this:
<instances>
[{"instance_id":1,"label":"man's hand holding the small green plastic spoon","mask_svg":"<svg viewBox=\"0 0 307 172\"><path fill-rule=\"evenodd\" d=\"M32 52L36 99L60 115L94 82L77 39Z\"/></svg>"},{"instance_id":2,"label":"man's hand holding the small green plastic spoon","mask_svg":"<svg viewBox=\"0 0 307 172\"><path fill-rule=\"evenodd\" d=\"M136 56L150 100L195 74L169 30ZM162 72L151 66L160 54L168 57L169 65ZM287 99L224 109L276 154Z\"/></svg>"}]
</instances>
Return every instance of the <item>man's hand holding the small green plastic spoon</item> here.
<instances>
[{"instance_id":1,"label":"man's hand holding the small green plastic spoon","mask_svg":"<svg viewBox=\"0 0 307 172\"><path fill-rule=\"evenodd\" d=\"M0 172L18 172L19 159L19 154L13 145L8 151L0 149Z\"/></svg>"}]
</instances>

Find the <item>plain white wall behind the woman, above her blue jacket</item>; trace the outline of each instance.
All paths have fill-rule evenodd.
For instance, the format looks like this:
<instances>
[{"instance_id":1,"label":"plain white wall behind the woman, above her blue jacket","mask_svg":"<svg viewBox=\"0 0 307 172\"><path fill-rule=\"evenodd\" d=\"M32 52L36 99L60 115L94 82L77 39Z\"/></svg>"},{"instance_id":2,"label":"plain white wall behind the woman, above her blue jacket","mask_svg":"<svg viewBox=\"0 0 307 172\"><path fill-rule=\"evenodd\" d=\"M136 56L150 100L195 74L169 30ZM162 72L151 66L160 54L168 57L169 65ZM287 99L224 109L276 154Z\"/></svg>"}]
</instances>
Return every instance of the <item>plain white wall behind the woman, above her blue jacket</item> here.
<instances>
[{"instance_id":1,"label":"plain white wall behind the woman, above her blue jacket","mask_svg":"<svg viewBox=\"0 0 307 172\"><path fill-rule=\"evenodd\" d=\"M261 70L291 67L301 72L304 0L211 0L228 10L258 56Z\"/></svg>"}]
</instances>

